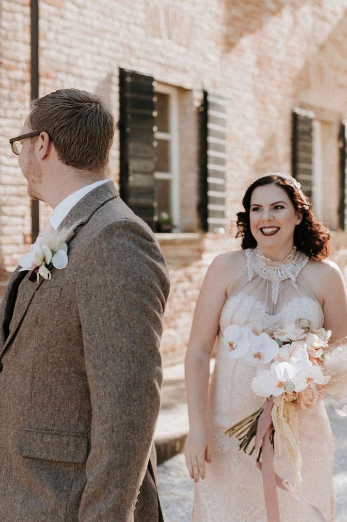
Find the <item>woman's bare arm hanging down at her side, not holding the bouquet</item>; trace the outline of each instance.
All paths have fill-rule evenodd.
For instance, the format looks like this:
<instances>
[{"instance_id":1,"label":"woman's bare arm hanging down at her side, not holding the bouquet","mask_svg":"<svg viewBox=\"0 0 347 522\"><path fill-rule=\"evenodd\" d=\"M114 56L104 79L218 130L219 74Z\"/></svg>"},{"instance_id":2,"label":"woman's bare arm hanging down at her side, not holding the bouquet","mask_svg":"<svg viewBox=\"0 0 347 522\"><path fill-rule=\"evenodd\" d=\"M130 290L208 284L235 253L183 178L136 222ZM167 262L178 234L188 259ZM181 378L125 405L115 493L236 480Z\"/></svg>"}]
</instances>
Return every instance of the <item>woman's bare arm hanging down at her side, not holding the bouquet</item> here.
<instances>
[{"instance_id":1,"label":"woman's bare arm hanging down at her side, not holding the bouquet","mask_svg":"<svg viewBox=\"0 0 347 522\"><path fill-rule=\"evenodd\" d=\"M192 479L205 478L207 447L207 389L210 357L225 302L230 256L217 256L209 267L195 307L192 330L185 358L189 433L185 444L187 468Z\"/></svg>"}]
</instances>

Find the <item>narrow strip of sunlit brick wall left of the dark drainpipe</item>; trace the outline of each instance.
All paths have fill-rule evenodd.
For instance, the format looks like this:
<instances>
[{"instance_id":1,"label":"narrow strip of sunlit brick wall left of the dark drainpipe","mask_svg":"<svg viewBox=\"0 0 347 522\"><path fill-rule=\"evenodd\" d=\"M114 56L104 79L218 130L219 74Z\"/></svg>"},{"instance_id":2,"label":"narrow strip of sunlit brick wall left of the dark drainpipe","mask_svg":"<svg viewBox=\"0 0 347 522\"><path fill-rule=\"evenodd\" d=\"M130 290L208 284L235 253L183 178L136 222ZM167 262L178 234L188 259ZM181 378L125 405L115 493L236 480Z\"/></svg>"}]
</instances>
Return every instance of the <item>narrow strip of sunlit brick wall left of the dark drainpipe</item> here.
<instances>
[{"instance_id":1,"label":"narrow strip of sunlit brick wall left of the dark drainpipe","mask_svg":"<svg viewBox=\"0 0 347 522\"><path fill-rule=\"evenodd\" d=\"M20 133L30 97L29 0L0 7L0 278L16 266L30 234L26 183L8 138Z\"/></svg>"}]
</instances>

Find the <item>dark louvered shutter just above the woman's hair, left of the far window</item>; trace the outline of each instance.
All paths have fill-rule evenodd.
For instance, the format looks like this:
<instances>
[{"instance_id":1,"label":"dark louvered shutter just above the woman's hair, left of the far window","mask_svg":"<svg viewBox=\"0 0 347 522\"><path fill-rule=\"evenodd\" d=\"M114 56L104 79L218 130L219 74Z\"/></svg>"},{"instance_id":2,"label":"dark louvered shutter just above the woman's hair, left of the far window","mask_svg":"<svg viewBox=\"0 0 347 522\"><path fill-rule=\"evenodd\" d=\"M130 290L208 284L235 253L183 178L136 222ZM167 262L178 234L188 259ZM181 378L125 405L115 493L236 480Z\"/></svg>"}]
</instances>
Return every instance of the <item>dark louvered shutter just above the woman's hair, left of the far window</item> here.
<instances>
[{"instance_id":1,"label":"dark louvered shutter just above the woman's hair, left of the far window","mask_svg":"<svg viewBox=\"0 0 347 522\"><path fill-rule=\"evenodd\" d=\"M292 175L301 183L309 199L313 193L313 120L314 113L293 109Z\"/></svg>"}]
</instances>

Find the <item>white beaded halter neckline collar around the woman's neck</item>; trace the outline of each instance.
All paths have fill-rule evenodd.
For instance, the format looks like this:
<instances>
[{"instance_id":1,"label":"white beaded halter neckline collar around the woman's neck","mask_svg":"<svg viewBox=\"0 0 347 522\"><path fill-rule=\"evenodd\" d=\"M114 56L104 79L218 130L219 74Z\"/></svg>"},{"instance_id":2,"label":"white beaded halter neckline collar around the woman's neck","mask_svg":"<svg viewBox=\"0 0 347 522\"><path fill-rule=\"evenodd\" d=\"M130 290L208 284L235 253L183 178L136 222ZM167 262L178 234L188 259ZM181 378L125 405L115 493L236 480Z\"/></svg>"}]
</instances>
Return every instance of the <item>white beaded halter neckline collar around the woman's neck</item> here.
<instances>
[{"instance_id":1,"label":"white beaded halter neckline collar around the woman's neck","mask_svg":"<svg viewBox=\"0 0 347 522\"><path fill-rule=\"evenodd\" d=\"M307 264L308 257L294 246L291 253L283 261L273 261L266 257L259 248L247 248L248 281L252 281L255 274L271 281L271 298L277 304L280 281L289 279L294 288L297 288L296 278Z\"/></svg>"}]
</instances>

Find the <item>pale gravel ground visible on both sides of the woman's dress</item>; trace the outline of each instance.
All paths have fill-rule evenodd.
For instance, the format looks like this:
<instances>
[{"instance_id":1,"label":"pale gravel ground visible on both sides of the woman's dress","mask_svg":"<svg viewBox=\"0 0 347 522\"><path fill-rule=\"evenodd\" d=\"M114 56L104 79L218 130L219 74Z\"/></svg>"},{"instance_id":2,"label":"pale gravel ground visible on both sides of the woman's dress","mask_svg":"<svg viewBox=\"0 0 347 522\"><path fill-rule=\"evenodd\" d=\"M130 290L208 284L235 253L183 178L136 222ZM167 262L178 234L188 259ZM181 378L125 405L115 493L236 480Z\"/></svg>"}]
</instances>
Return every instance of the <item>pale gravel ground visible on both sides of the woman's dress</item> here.
<instances>
[{"instance_id":1,"label":"pale gravel ground visible on both sides of the woman's dress","mask_svg":"<svg viewBox=\"0 0 347 522\"><path fill-rule=\"evenodd\" d=\"M331 405L327 409L334 435L336 522L347 522L347 417L338 417ZM165 522L189 522L193 481L182 454L158 466L158 489Z\"/></svg>"}]
</instances>

